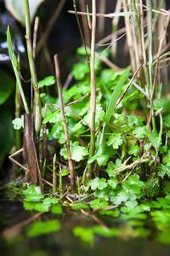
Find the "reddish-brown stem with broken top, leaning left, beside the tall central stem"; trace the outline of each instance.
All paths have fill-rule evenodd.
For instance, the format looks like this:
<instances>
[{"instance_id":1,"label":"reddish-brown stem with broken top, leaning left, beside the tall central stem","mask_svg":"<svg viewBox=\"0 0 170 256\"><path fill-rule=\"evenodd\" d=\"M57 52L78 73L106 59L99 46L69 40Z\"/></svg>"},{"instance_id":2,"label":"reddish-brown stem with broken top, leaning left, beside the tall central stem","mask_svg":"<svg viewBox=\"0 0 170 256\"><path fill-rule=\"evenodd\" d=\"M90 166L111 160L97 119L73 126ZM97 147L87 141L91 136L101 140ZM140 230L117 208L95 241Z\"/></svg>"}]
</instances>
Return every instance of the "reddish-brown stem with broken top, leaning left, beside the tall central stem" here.
<instances>
[{"instance_id":1,"label":"reddish-brown stem with broken top, leaning left, beside the tall central stem","mask_svg":"<svg viewBox=\"0 0 170 256\"><path fill-rule=\"evenodd\" d=\"M70 148L70 138L69 138L69 132L66 125L66 119L65 119L65 106L62 96L62 85L60 81L60 72L59 72L59 57L58 55L54 55L54 65L55 65L55 76L57 80L57 87L58 87L58 94L59 94L59 108L61 111L62 119L63 119L63 128L65 131L65 146L67 149L68 154L68 164L69 164L69 171L70 171L70 179L71 179L71 189L75 189L75 174L74 174L74 165L73 160L71 159L71 148Z\"/></svg>"}]
</instances>

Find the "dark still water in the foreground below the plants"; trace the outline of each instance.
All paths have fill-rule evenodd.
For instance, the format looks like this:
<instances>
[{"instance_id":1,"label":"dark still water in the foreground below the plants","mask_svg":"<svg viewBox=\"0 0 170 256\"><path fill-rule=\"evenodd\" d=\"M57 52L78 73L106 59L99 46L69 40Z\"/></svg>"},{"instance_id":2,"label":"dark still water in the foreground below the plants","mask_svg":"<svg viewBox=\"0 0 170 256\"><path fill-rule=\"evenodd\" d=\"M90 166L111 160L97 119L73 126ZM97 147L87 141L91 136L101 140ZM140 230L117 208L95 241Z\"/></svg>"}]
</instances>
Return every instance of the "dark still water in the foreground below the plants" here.
<instances>
[{"instance_id":1,"label":"dark still water in the foreground below the plants","mask_svg":"<svg viewBox=\"0 0 170 256\"><path fill-rule=\"evenodd\" d=\"M18 224L29 218L22 205L18 202L8 201L0 195L0 229L3 230ZM27 238L25 229L13 239L0 238L1 256L169 256L170 247L161 245L152 239L127 239L120 238L104 239L95 237L94 246L83 243L73 236L72 228L76 224L92 224L92 220L79 213L63 216L61 218L62 229L58 233L36 238ZM10 233L10 232L9 232Z\"/></svg>"}]
</instances>

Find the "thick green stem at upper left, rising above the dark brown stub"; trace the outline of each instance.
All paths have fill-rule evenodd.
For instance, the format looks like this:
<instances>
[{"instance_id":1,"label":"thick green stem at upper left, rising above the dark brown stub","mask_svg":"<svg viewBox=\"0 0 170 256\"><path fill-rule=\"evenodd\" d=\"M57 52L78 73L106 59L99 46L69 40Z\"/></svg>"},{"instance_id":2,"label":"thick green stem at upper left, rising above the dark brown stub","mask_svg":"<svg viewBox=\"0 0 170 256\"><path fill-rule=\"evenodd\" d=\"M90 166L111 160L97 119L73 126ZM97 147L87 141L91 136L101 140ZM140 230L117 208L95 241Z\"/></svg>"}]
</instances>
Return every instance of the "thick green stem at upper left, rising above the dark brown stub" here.
<instances>
[{"instance_id":1,"label":"thick green stem at upper left, rising above the dark brown stub","mask_svg":"<svg viewBox=\"0 0 170 256\"><path fill-rule=\"evenodd\" d=\"M34 123L35 123L35 131L37 135L39 134L41 128L41 99L37 84L37 73L35 62L33 58L32 46L31 46L31 18L30 18L30 8L28 0L24 1L25 6L25 15L26 15L26 47L27 47L27 54L28 54L28 61L30 66L31 72L31 83L34 89Z\"/></svg>"}]
</instances>

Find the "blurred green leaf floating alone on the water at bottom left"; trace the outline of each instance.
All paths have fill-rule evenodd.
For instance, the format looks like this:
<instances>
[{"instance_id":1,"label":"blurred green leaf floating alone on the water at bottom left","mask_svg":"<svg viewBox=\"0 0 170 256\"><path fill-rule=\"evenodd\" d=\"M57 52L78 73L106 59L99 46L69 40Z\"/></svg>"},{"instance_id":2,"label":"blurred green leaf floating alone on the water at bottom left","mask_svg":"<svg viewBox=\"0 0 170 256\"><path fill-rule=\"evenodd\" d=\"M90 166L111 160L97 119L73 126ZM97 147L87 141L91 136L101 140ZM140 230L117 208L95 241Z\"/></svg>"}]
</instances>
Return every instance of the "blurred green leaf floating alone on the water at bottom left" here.
<instances>
[{"instance_id":1,"label":"blurred green leaf floating alone on the water at bottom left","mask_svg":"<svg viewBox=\"0 0 170 256\"><path fill-rule=\"evenodd\" d=\"M37 221L31 224L26 232L28 237L42 236L60 230L59 220Z\"/></svg>"}]
</instances>

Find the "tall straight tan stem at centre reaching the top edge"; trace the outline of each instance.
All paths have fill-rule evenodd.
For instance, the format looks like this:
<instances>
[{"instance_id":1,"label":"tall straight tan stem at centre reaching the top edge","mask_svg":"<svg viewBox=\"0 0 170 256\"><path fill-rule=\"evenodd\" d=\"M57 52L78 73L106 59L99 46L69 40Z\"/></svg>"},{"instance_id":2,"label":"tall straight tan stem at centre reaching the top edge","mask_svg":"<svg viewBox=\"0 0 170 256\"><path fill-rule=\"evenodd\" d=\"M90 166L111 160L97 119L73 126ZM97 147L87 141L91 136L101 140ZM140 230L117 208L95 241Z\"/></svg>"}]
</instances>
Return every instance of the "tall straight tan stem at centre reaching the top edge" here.
<instances>
[{"instance_id":1,"label":"tall straight tan stem at centre reaching the top edge","mask_svg":"<svg viewBox=\"0 0 170 256\"><path fill-rule=\"evenodd\" d=\"M95 34L96 34L96 0L92 0L92 38L91 38L91 60L90 60L90 143L89 143L89 159L93 157L95 152L95 111L96 111L96 86L95 86ZM88 165L88 177L92 176L93 164Z\"/></svg>"}]
</instances>

